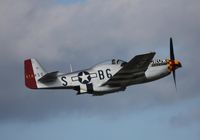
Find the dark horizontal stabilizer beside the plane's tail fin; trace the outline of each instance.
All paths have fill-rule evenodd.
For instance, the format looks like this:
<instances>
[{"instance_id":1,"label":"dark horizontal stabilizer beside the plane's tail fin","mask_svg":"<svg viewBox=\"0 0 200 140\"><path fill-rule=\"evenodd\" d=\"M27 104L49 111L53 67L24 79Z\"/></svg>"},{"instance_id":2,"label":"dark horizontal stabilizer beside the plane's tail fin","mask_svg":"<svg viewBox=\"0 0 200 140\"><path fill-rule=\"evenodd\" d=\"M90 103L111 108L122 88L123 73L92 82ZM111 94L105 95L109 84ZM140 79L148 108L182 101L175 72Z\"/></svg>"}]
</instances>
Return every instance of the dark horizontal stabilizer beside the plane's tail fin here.
<instances>
[{"instance_id":1,"label":"dark horizontal stabilizer beside the plane's tail fin","mask_svg":"<svg viewBox=\"0 0 200 140\"><path fill-rule=\"evenodd\" d=\"M53 82L57 79L58 71L50 72L41 77L38 81L42 83Z\"/></svg>"}]
</instances>

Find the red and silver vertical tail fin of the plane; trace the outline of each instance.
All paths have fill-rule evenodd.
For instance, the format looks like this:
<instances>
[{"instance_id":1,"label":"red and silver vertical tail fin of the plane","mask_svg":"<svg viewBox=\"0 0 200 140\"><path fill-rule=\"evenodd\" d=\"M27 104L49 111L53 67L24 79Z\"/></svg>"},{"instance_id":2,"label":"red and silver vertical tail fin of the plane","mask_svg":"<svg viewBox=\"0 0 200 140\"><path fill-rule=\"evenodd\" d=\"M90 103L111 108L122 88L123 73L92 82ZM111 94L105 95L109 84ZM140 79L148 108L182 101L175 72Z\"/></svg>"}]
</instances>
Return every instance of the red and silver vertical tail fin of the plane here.
<instances>
[{"instance_id":1,"label":"red and silver vertical tail fin of the plane","mask_svg":"<svg viewBox=\"0 0 200 140\"><path fill-rule=\"evenodd\" d=\"M25 85L30 89L37 89L37 81L46 74L36 59L27 59L24 61L24 72Z\"/></svg>"}]
</instances>

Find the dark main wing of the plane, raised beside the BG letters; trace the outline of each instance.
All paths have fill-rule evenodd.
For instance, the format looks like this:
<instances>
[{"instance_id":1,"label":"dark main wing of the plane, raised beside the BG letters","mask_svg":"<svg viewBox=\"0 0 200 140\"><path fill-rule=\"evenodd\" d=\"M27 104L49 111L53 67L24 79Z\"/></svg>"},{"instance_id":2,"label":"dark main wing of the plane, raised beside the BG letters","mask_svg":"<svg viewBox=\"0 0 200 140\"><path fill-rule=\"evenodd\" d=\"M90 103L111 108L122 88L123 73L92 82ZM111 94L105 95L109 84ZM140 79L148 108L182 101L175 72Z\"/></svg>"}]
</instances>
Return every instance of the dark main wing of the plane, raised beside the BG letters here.
<instances>
[{"instance_id":1,"label":"dark main wing of the plane, raised beside the BG letters","mask_svg":"<svg viewBox=\"0 0 200 140\"><path fill-rule=\"evenodd\" d=\"M112 78L105 82L103 86L123 86L133 79L144 76L144 73L147 70L155 54L155 52L151 52L135 56Z\"/></svg>"}]
</instances>

